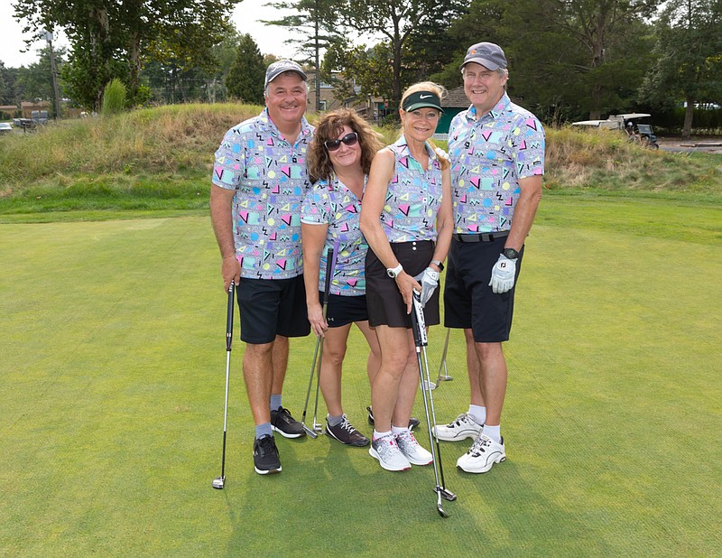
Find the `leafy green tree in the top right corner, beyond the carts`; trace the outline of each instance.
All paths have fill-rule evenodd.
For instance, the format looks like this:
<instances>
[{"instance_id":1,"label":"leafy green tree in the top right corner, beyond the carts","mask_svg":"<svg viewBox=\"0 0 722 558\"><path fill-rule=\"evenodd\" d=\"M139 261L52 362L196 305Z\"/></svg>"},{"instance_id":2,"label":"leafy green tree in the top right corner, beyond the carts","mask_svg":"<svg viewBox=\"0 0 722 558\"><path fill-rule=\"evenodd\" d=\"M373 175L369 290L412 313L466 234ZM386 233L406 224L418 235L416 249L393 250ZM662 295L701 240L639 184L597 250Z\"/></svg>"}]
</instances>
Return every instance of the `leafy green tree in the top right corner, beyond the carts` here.
<instances>
[{"instance_id":1,"label":"leafy green tree in the top right corner, beyond the carts","mask_svg":"<svg viewBox=\"0 0 722 558\"><path fill-rule=\"evenodd\" d=\"M656 30L659 58L640 94L658 106L683 100L682 136L689 138L695 105L722 95L722 2L671 0Z\"/></svg>"}]
</instances>

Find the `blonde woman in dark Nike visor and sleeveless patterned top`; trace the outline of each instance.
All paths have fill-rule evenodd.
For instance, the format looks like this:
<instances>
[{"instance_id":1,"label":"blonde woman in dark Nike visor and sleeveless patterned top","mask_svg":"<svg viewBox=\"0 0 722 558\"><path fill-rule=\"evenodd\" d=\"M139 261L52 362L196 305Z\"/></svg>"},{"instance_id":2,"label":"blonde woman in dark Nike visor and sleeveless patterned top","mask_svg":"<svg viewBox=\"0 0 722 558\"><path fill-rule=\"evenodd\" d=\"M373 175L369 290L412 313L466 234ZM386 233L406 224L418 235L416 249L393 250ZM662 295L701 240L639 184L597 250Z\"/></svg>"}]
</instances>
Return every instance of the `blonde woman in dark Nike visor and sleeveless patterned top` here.
<instances>
[{"instance_id":1,"label":"blonde woman in dark Nike visor and sleeveless patterned top","mask_svg":"<svg viewBox=\"0 0 722 558\"><path fill-rule=\"evenodd\" d=\"M371 386L375 430L369 453L385 470L428 465L429 451L409 429L419 367L409 313L421 293L426 325L439 318L439 273L451 242L449 161L430 143L445 89L422 82L403 93L403 135L371 165L361 230L366 255L369 324L381 347L381 367ZM440 152L445 155L445 153Z\"/></svg>"}]
</instances>

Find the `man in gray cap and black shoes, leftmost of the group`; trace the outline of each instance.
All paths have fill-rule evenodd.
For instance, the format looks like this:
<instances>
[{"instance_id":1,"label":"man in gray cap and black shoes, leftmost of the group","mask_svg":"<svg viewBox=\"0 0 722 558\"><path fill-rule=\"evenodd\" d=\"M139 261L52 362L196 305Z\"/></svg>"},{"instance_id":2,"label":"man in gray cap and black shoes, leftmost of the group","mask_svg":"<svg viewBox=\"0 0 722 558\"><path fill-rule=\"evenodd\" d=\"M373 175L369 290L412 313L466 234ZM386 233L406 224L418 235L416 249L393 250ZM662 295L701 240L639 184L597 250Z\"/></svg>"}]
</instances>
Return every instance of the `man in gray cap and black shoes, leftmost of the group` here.
<instances>
[{"instance_id":1,"label":"man in gray cap and black shoes, leftmost of the group","mask_svg":"<svg viewBox=\"0 0 722 558\"><path fill-rule=\"evenodd\" d=\"M305 435L282 406L290 337L310 333L301 258L301 202L313 128L306 73L292 60L265 74L265 109L228 130L216 152L210 216L226 291L236 285L243 374L255 422L254 468L281 471L273 431Z\"/></svg>"}]
</instances>

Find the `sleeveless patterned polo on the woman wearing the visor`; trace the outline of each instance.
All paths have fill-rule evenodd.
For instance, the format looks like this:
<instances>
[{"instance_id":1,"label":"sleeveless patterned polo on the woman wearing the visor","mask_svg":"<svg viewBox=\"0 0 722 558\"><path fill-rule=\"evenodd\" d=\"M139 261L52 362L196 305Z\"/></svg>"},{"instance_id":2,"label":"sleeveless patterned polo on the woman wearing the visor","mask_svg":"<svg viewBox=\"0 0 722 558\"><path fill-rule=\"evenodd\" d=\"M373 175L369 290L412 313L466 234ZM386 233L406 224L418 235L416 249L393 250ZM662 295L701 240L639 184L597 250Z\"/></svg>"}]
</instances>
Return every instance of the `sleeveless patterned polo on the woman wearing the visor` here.
<instances>
[{"instance_id":1,"label":"sleeveless patterned polo on the woman wearing the visor","mask_svg":"<svg viewBox=\"0 0 722 558\"><path fill-rule=\"evenodd\" d=\"M381 212L381 226L389 242L436 240L436 214L441 205L441 165L426 144L429 166L423 170L403 135L389 145L395 158L393 177Z\"/></svg>"}]
</instances>

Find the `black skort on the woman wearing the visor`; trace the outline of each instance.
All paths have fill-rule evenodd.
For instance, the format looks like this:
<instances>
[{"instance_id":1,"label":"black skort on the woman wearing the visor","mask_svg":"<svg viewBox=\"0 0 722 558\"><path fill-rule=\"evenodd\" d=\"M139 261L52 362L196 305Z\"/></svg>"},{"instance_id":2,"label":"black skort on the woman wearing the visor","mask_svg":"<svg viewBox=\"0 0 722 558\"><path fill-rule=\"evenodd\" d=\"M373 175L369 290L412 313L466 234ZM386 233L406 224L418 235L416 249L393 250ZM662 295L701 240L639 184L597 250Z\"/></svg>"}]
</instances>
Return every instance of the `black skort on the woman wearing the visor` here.
<instances>
[{"instance_id":1,"label":"black skort on the woman wearing the visor","mask_svg":"<svg viewBox=\"0 0 722 558\"><path fill-rule=\"evenodd\" d=\"M415 277L426 269L434 255L435 244L430 240L417 242L392 242L394 256L403 265L403 271ZM411 329L412 322L406 313L406 304L396 286L396 280L389 277L386 267L369 248L366 253L366 305L368 324L374 328L387 325L392 328ZM431 295L423 309L426 325L436 325L439 319L439 287Z\"/></svg>"}]
</instances>

